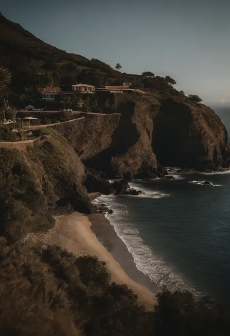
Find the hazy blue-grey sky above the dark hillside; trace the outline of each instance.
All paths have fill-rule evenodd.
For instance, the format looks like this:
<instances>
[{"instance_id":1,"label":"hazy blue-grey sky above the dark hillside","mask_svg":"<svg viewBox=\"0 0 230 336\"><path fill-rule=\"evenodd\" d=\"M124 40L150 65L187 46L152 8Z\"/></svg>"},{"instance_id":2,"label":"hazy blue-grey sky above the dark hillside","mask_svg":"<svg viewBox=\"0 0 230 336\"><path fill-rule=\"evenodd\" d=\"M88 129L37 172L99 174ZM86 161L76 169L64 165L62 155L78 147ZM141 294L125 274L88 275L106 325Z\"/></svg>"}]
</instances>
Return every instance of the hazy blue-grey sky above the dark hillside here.
<instances>
[{"instance_id":1,"label":"hazy blue-grey sky above the dark hillside","mask_svg":"<svg viewBox=\"0 0 230 336\"><path fill-rule=\"evenodd\" d=\"M228 0L0 0L0 12L67 52L230 103Z\"/></svg>"}]
</instances>

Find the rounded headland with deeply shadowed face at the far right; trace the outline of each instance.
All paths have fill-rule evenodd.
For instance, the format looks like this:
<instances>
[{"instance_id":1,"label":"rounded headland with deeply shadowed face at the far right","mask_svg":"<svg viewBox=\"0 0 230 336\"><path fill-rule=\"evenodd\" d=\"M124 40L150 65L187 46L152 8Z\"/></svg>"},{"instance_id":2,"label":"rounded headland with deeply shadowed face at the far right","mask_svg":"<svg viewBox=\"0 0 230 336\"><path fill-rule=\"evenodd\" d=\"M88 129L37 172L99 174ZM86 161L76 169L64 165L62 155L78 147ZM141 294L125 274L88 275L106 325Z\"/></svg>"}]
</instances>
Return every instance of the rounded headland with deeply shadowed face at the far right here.
<instances>
[{"instance_id":1,"label":"rounded headland with deeply shadowed face at the far right","mask_svg":"<svg viewBox=\"0 0 230 336\"><path fill-rule=\"evenodd\" d=\"M227 167L228 134L213 110L166 99L154 120L152 147L163 165L215 170Z\"/></svg>"}]
</instances>

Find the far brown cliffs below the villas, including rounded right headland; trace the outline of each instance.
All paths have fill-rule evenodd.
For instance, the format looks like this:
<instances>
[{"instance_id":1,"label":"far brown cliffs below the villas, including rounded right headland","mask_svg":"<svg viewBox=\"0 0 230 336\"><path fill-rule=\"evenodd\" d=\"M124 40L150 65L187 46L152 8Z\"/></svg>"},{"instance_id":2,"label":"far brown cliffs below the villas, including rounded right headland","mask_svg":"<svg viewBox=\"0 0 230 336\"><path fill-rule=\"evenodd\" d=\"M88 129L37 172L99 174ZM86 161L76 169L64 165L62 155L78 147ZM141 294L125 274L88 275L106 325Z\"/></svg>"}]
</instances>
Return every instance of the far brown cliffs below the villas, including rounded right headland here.
<instances>
[{"instance_id":1,"label":"far brown cliffs below the villas, including rounded right headland","mask_svg":"<svg viewBox=\"0 0 230 336\"><path fill-rule=\"evenodd\" d=\"M119 97L114 112L120 114L86 114L55 127L85 166L107 177L162 176L160 164L197 170L228 166L226 128L207 106L159 95L124 97L124 102Z\"/></svg>"}]
</instances>

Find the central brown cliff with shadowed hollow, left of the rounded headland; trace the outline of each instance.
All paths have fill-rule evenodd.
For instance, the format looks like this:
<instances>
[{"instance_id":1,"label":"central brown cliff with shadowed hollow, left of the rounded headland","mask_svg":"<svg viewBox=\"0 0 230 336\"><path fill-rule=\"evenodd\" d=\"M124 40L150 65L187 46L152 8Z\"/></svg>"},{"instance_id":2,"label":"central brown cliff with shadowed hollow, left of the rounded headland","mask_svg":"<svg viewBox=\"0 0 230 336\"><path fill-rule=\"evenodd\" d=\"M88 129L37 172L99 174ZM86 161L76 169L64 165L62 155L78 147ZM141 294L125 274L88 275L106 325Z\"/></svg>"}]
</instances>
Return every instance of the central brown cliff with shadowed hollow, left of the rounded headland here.
<instances>
[{"instance_id":1,"label":"central brown cliff with shadowed hollow, left of the rounded headland","mask_svg":"<svg viewBox=\"0 0 230 336\"><path fill-rule=\"evenodd\" d=\"M84 165L118 177L128 172L145 176L159 174L152 152L153 118L141 101L130 100L115 112L120 115L85 115L71 124L55 129L66 137Z\"/></svg>"}]
</instances>

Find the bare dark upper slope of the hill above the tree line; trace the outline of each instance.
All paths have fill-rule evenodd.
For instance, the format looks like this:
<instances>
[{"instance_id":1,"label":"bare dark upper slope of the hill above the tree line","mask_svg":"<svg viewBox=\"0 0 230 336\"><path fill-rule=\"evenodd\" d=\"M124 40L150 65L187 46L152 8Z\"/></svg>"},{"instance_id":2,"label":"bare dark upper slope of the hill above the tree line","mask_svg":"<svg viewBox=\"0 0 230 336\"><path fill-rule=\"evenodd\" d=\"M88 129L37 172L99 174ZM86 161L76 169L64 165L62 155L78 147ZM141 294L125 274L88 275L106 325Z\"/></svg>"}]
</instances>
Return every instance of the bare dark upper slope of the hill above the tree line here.
<instances>
[{"instance_id":1,"label":"bare dark upper slope of the hill above the tree line","mask_svg":"<svg viewBox=\"0 0 230 336\"><path fill-rule=\"evenodd\" d=\"M88 77L89 74L92 77L98 74L100 80L122 77L118 71L99 60L89 60L48 45L1 14L0 32L0 64L8 67L13 75L20 69L24 73L35 74L59 72L63 76L73 72L74 77L80 73ZM13 83L14 80L16 78L13 76Z\"/></svg>"}]
</instances>

